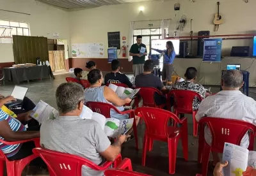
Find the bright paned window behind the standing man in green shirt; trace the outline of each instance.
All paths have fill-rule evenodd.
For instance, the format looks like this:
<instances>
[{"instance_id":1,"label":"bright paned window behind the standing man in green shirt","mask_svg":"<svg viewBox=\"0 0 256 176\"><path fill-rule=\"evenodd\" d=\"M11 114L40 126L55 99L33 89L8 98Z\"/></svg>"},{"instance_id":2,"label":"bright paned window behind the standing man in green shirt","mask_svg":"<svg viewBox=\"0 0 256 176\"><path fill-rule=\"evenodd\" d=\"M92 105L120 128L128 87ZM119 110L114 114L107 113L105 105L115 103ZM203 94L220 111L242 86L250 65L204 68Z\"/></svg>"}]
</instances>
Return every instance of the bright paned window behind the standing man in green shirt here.
<instances>
[{"instance_id":1,"label":"bright paned window behind the standing man in green shirt","mask_svg":"<svg viewBox=\"0 0 256 176\"><path fill-rule=\"evenodd\" d=\"M166 28L166 37L168 37L168 28ZM153 39L162 39L162 33L160 28L155 29L135 29L133 31L133 43L136 43L136 36L142 36L142 43L144 43L147 47L147 51L149 53L151 48L151 40ZM145 58L148 59L147 57ZM163 70L163 57L159 60L160 68Z\"/></svg>"}]
</instances>

